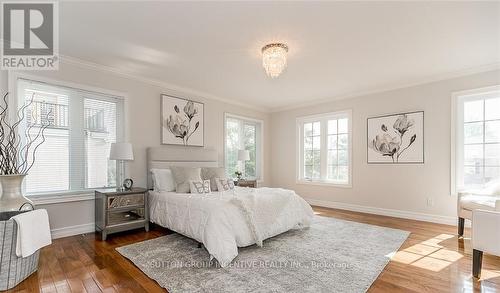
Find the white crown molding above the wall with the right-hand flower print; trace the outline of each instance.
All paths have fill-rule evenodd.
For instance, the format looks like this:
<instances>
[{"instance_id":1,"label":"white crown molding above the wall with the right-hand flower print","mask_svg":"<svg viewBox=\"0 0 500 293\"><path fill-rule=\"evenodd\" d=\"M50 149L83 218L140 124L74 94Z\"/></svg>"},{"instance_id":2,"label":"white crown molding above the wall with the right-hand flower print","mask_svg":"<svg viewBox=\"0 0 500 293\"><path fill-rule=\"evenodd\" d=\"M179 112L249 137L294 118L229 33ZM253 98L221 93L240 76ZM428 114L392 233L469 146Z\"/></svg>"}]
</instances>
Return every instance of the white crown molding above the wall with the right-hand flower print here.
<instances>
[{"instance_id":1,"label":"white crown molding above the wall with the right-hand flower print","mask_svg":"<svg viewBox=\"0 0 500 293\"><path fill-rule=\"evenodd\" d=\"M358 98L358 97L362 97L362 96L378 94L378 93L383 93L383 92L389 92L389 91L393 91L393 90L409 88L409 87L414 87L414 86L418 86L418 85L424 85L424 84L429 84L429 83L433 83L433 82L444 81L444 80L448 80L448 79L478 74L478 73L482 73L482 72L494 71L494 70L500 70L500 63L492 63L492 64L483 65L483 66L477 66L477 67L467 68L467 69L463 69L463 70L452 71L452 72L448 72L445 74L438 74L438 75L434 75L434 76L424 78L424 79L414 81L414 82L395 83L395 84L392 84L389 86L374 88L371 90L352 92L349 94L334 96L334 97L330 97L330 98L315 99L312 101L298 103L298 104L290 105L290 106L286 106L286 107L275 107L275 108L271 108L270 112L271 113L278 113L278 112L284 112L284 111L289 111L289 110L295 110L295 109L299 109L299 108L324 104L324 103L328 103L328 102L332 102L332 101L353 99L353 98Z\"/></svg>"}]
</instances>

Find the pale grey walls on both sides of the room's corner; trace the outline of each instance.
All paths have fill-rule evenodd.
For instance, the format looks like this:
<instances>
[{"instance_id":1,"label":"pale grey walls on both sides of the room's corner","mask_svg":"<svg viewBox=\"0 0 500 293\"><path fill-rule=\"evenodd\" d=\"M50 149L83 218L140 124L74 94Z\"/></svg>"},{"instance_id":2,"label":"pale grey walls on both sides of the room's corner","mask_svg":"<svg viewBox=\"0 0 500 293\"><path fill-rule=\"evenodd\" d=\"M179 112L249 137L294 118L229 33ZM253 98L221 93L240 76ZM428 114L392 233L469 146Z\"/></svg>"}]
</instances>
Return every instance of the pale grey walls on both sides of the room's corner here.
<instances>
[{"instance_id":1,"label":"pale grey walls on both sides of the room's corner","mask_svg":"<svg viewBox=\"0 0 500 293\"><path fill-rule=\"evenodd\" d=\"M160 144L160 93L167 93L205 103L205 145L218 150L221 162L224 112L264 120L264 185L294 189L318 205L446 223L454 223L456 214L456 198L450 195L451 93L500 84L500 71L492 71L271 115L87 66L63 63L59 71L28 73L127 94L128 140L135 151L135 161L129 164L129 169L137 186L146 184L146 148ZM7 88L6 80L6 72L0 71L0 89ZM296 184L295 119L344 109L352 109L353 113L353 187ZM366 118L415 110L425 111L425 164L368 165ZM427 198L433 200L433 206L427 205ZM40 207L49 211L52 229L58 236L93 229L94 210L90 200Z\"/></svg>"}]
</instances>

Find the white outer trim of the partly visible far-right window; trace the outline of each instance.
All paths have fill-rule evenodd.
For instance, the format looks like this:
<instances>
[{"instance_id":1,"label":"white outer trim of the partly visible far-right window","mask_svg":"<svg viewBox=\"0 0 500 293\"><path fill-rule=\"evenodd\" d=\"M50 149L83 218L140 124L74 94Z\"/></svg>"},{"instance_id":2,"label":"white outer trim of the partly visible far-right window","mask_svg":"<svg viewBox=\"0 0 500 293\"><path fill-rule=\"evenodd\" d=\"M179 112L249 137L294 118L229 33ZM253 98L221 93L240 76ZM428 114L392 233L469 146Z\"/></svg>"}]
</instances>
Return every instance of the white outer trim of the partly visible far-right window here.
<instances>
[{"instance_id":1,"label":"white outer trim of the partly visible far-right window","mask_svg":"<svg viewBox=\"0 0 500 293\"><path fill-rule=\"evenodd\" d=\"M476 96L479 94L491 94L500 91L500 85L482 87L477 89L453 92L451 94L451 150L450 150L450 194L456 196L459 192L464 191L464 189L458 188L457 186L457 166L461 164L461 160L458 157L463 155L457 153L457 147L459 144L463 145L463 133L458 133L458 123L462 122L463 117L463 107L461 100L467 97ZM460 119L460 120L459 120ZM461 129L461 128L460 128ZM463 151L463 147L461 148Z\"/></svg>"}]
</instances>

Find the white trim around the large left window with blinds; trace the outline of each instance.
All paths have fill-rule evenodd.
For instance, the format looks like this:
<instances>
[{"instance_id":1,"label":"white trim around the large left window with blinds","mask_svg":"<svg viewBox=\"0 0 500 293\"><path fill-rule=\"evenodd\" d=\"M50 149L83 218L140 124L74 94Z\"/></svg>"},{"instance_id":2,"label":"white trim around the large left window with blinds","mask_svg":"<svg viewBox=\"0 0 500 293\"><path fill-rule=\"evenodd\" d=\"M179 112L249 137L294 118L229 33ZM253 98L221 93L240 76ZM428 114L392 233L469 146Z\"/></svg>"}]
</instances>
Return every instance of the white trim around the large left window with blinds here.
<instances>
[{"instance_id":1,"label":"white trim around the large left window with blinds","mask_svg":"<svg viewBox=\"0 0 500 293\"><path fill-rule=\"evenodd\" d=\"M15 111L17 111L18 107L18 86L17 81L19 79L32 80L34 82L46 83L51 86L59 86L63 88L69 88L79 91L86 91L88 93L96 93L100 96L110 96L113 98L119 98L123 102L123 115L122 115L122 133L118 135L117 138L120 137L123 141L128 141L129 138L129 127L128 127L128 94L120 91L114 91L109 89L103 89L99 87L89 86L85 84L79 84L74 82L67 82L58 79L46 78L34 74L27 74L24 72L18 71L9 71L8 72L8 88L9 88L9 113L8 115L13 115L15 117ZM118 164L118 163L117 163ZM118 168L118 167L117 167ZM125 178L129 177L130 167L125 165L124 168L124 176ZM117 182L117 184L120 184ZM72 191L63 191L63 192L40 192L36 194L31 194L29 196L35 204L53 204L53 203L65 203L65 202L74 202L74 201L82 201L88 200L91 196L93 197L93 191L95 188L83 189L83 190L72 190Z\"/></svg>"}]
</instances>

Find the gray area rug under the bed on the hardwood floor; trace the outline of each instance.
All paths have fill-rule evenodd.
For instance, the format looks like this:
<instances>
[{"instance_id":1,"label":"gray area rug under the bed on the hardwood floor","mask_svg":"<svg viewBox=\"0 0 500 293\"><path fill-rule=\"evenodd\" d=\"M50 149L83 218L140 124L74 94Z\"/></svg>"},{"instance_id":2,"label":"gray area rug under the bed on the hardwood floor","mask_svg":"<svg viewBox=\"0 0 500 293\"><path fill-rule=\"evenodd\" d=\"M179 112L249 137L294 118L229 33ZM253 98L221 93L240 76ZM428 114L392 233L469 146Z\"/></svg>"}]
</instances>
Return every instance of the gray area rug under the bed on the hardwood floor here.
<instances>
[{"instance_id":1,"label":"gray area rug under the bed on the hardwood floor","mask_svg":"<svg viewBox=\"0 0 500 293\"><path fill-rule=\"evenodd\" d=\"M316 216L310 228L239 248L228 268L179 234L116 250L170 293L365 292L408 235Z\"/></svg>"}]
</instances>

